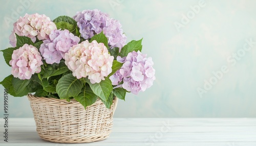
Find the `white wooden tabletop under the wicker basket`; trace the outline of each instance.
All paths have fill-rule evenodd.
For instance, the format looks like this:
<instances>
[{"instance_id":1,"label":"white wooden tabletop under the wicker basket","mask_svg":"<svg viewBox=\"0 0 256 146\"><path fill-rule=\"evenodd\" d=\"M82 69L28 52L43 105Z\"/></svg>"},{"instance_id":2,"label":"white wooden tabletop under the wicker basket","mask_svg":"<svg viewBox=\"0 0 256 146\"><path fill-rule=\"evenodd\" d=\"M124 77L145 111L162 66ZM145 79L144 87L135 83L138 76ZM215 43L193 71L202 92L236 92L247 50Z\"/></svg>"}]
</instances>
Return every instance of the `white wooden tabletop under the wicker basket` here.
<instances>
[{"instance_id":1,"label":"white wooden tabletop under the wicker basket","mask_svg":"<svg viewBox=\"0 0 256 146\"><path fill-rule=\"evenodd\" d=\"M10 118L5 142L0 121L0 145L256 145L256 118L114 118L109 138L79 144L40 139L33 118Z\"/></svg>"}]
</instances>

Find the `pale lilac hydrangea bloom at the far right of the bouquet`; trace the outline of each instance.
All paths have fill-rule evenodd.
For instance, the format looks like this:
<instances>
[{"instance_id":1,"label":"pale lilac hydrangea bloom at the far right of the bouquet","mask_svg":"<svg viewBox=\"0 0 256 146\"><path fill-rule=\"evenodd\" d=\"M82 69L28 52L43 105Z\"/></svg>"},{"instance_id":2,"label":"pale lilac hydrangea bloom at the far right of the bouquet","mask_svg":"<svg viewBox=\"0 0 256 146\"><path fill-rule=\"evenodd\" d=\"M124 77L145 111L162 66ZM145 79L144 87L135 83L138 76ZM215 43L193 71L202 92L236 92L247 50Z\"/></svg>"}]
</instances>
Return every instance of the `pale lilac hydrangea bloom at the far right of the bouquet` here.
<instances>
[{"instance_id":1,"label":"pale lilac hydrangea bloom at the far right of the bouquet","mask_svg":"<svg viewBox=\"0 0 256 146\"><path fill-rule=\"evenodd\" d=\"M134 94L138 94L139 91L145 91L153 85L153 81L156 78L151 57L146 58L146 55L141 54L140 51L133 51L126 58L118 58L118 60L124 60L124 63L110 77L113 85L118 85L123 81L121 86Z\"/></svg>"}]
</instances>

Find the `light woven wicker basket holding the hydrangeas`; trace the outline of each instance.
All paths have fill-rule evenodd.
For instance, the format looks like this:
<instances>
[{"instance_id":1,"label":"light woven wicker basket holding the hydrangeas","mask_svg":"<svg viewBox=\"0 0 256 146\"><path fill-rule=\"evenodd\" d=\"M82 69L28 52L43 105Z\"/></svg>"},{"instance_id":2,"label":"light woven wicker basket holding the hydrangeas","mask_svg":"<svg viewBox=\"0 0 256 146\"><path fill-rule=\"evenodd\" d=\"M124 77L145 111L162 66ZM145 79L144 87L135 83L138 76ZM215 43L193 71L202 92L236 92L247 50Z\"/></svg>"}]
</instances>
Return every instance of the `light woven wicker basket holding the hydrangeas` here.
<instances>
[{"instance_id":1,"label":"light woven wicker basket holding the hydrangeas","mask_svg":"<svg viewBox=\"0 0 256 146\"><path fill-rule=\"evenodd\" d=\"M118 99L110 109L100 99L86 108L77 101L35 97L28 94L39 136L58 143L84 143L109 137Z\"/></svg>"}]
</instances>

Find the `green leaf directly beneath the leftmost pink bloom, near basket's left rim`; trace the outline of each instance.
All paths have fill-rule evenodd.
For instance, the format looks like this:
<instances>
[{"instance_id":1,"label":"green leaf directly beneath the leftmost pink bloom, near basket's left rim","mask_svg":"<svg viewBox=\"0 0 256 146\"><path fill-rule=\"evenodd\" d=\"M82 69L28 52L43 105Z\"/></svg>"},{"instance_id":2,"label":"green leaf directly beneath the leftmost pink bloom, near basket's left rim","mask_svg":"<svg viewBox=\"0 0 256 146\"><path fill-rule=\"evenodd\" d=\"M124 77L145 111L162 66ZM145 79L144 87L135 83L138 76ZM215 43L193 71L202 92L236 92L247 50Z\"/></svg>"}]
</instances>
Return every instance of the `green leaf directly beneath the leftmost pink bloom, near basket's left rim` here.
<instances>
[{"instance_id":1,"label":"green leaf directly beneath the leftmost pink bloom, near basket's left rim","mask_svg":"<svg viewBox=\"0 0 256 146\"><path fill-rule=\"evenodd\" d=\"M12 85L16 94L27 95L29 93L28 85L31 80L20 80L19 78L12 79Z\"/></svg>"}]
</instances>

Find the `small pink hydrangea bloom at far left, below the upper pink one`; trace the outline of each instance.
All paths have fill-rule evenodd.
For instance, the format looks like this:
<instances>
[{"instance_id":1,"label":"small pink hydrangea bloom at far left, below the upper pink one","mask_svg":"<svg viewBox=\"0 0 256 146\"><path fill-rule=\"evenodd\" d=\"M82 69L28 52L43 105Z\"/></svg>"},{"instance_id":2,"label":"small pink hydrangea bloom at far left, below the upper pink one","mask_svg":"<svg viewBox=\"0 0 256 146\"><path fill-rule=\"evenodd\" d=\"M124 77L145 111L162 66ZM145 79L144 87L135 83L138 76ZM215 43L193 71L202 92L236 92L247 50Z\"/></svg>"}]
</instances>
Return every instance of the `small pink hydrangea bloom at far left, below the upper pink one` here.
<instances>
[{"instance_id":1,"label":"small pink hydrangea bloom at far left, below the upper pink one","mask_svg":"<svg viewBox=\"0 0 256 146\"><path fill-rule=\"evenodd\" d=\"M36 47L24 44L13 51L12 60L9 62L12 66L12 75L20 80L30 79L34 73L41 71L41 59Z\"/></svg>"}]
</instances>

